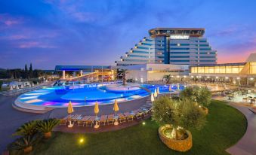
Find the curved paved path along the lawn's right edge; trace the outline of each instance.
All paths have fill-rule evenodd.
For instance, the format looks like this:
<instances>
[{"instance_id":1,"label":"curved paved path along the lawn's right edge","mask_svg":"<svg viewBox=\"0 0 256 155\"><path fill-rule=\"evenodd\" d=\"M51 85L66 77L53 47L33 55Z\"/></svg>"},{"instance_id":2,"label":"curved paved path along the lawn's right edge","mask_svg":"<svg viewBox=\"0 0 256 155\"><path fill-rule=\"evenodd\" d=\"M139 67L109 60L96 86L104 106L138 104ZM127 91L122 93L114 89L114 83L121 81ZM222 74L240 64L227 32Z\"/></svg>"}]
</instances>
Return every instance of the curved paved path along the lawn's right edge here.
<instances>
[{"instance_id":1,"label":"curved paved path along the lawn's right edge","mask_svg":"<svg viewBox=\"0 0 256 155\"><path fill-rule=\"evenodd\" d=\"M224 100L220 96L214 96L213 99ZM225 100L226 101L226 100ZM226 101L227 102L227 101ZM234 144L227 148L227 152L233 155L255 155L256 154L256 114L249 110L249 107L236 102L228 102L228 105L236 108L245 115L247 119L247 129L245 135Z\"/></svg>"}]
</instances>

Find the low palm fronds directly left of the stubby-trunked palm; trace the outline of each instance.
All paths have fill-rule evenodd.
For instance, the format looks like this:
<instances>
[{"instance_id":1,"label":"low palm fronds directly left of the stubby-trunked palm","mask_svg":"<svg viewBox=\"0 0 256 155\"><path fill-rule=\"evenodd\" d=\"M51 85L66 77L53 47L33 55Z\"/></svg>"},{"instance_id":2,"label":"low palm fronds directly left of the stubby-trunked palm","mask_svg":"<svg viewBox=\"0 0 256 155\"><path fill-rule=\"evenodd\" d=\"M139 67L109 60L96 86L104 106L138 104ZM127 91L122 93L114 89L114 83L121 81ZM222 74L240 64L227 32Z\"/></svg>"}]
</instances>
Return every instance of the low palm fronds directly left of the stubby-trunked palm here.
<instances>
[{"instance_id":1,"label":"low palm fronds directly left of the stubby-trunked palm","mask_svg":"<svg viewBox=\"0 0 256 155\"><path fill-rule=\"evenodd\" d=\"M30 136L38 132L36 129L38 120L32 120L20 126L13 135Z\"/></svg>"}]
</instances>

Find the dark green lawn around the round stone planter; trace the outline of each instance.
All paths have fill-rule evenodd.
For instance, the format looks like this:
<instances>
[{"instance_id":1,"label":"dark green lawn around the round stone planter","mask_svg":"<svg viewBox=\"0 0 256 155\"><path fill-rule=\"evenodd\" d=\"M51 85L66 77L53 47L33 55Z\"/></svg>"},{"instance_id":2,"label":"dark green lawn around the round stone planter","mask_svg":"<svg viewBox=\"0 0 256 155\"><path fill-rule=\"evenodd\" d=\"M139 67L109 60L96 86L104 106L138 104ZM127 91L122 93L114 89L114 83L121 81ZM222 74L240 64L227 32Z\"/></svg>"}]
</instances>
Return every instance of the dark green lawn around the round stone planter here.
<instances>
[{"instance_id":1,"label":"dark green lawn around the round stone planter","mask_svg":"<svg viewBox=\"0 0 256 155\"><path fill-rule=\"evenodd\" d=\"M246 119L235 108L220 101L211 102L209 113L203 129L191 130L193 147L186 153L165 147L158 136L159 126L146 120L144 126L139 124L115 132L54 132L53 138L37 144L31 154L228 154L225 150L244 135ZM85 142L79 144L79 138L85 138Z\"/></svg>"}]
</instances>

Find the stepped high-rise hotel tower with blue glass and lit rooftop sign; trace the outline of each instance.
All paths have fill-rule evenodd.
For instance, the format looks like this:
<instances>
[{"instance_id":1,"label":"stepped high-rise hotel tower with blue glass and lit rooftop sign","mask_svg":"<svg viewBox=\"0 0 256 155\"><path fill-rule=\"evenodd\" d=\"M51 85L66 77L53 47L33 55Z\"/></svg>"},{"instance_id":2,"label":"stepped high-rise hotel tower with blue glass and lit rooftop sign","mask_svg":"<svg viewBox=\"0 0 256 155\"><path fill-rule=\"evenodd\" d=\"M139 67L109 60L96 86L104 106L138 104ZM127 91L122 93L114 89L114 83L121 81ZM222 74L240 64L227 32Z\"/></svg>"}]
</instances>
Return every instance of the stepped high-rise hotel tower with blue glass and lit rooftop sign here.
<instances>
[{"instance_id":1,"label":"stepped high-rise hotel tower with blue glass and lit rooftop sign","mask_svg":"<svg viewBox=\"0 0 256 155\"><path fill-rule=\"evenodd\" d=\"M116 65L216 64L217 52L203 37L205 29L156 28L150 29L150 37L144 37L131 50L121 56Z\"/></svg>"}]
</instances>

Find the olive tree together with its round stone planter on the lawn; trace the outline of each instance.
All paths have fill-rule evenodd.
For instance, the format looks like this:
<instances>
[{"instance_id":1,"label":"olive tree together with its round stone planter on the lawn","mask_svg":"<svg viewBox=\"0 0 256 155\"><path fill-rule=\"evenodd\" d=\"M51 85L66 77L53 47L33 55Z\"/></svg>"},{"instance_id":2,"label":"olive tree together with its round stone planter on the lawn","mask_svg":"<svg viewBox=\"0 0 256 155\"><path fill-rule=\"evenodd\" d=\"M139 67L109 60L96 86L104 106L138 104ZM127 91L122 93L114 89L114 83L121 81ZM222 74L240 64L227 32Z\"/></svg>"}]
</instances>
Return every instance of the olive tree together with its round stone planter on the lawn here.
<instances>
[{"instance_id":1,"label":"olive tree together with its round stone planter on the lawn","mask_svg":"<svg viewBox=\"0 0 256 155\"><path fill-rule=\"evenodd\" d=\"M205 125L202 109L189 99L172 100L161 96L153 102L153 120L159 123L159 138L169 148L187 151L192 147L192 135L187 129Z\"/></svg>"}]
</instances>

